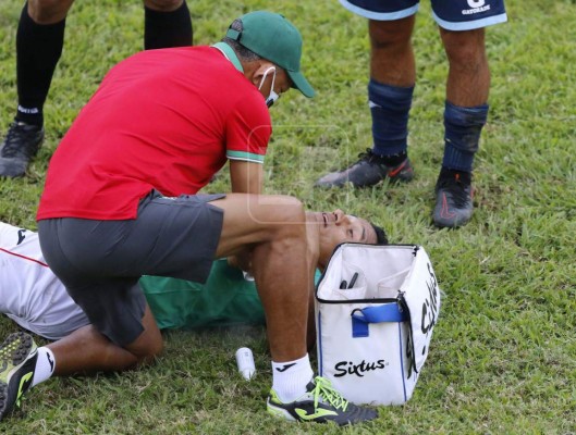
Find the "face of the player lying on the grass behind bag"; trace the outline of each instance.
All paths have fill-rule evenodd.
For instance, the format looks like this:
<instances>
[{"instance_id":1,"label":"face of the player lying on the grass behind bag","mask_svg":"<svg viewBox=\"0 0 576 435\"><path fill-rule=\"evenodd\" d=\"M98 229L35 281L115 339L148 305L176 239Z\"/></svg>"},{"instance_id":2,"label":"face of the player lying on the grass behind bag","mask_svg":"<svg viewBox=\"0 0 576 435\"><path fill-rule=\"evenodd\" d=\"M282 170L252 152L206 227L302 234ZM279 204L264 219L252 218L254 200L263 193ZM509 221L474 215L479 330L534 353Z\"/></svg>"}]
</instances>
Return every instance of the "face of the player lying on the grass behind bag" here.
<instances>
[{"instance_id":1,"label":"face of the player lying on the grass behind bag","mask_svg":"<svg viewBox=\"0 0 576 435\"><path fill-rule=\"evenodd\" d=\"M344 214L342 210L317 212L320 224L320 251L331 253L343 243L376 244L378 238L370 223L364 219Z\"/></svg>"}]
</instances>

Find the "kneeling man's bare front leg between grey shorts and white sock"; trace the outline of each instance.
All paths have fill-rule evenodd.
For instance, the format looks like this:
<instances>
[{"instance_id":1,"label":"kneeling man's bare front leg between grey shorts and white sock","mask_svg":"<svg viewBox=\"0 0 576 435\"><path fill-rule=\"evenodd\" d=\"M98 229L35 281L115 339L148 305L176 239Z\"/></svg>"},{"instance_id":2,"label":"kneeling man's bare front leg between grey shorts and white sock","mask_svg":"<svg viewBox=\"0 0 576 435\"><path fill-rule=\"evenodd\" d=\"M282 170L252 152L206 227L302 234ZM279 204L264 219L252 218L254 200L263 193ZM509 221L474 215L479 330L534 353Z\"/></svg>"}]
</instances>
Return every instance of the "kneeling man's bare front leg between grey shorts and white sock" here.
<instances>
[{"instance_id":1,"label":"kneeling man's bare front leg between grey shorts and white sock","mask_svg":"<svg viewBox=\"0 0 576 435\"><path fill-rule=\"evenodd\" d=\"M253 275L266 312L272 359L304 357L314 276L302 203L284 196L229 195L212 204L224 211L217 257L253 247Z\"/></svg>"}]
</instances>

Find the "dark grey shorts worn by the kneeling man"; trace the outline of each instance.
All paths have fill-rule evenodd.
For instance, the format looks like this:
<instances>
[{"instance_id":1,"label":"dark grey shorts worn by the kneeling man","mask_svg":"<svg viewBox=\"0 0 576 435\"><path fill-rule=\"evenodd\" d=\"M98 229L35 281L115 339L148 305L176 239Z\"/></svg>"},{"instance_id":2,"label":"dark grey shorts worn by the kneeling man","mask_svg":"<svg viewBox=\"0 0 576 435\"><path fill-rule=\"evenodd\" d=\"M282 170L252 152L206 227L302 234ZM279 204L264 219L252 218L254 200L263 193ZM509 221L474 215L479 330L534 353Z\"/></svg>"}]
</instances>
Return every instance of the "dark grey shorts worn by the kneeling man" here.
<instances>
[{"instance_id":1,"label":"dark grey shorts worn by the kneeling man","mask_svg":"<svg viewBox=\"0 0 576 435\"><path fill-rule=\"evenodd\" d=\"M223 222L223 211L208 202L223 197L167 198L152 190L140 201L135 220L42 220L40 247L90 323L125 346L144 331L142 275L206 282Z\"/></svg>"}]
</instances>

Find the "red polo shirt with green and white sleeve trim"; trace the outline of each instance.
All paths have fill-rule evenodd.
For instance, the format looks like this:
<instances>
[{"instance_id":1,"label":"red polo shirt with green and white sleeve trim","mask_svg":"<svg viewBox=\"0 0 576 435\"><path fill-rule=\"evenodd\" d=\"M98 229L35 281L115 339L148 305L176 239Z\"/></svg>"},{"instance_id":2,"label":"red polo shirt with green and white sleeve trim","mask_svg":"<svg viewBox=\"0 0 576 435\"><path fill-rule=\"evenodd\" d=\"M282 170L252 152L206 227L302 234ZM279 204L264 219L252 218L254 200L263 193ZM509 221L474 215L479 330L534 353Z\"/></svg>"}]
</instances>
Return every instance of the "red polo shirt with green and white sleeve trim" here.
<instances>
[{"instance_id":1,"label":"red polo shirt with green and white sleeve trim","mask_svg":"<svg viewBox=\"0 0 576 435\"><path fill-rule=\"evenodd\" d=\"M37 219L134 219L152 188L195 194L228 159L262 162L270 115L217 49L139 52L114 66L60 142Z\"/></svg>"}]
</instances>

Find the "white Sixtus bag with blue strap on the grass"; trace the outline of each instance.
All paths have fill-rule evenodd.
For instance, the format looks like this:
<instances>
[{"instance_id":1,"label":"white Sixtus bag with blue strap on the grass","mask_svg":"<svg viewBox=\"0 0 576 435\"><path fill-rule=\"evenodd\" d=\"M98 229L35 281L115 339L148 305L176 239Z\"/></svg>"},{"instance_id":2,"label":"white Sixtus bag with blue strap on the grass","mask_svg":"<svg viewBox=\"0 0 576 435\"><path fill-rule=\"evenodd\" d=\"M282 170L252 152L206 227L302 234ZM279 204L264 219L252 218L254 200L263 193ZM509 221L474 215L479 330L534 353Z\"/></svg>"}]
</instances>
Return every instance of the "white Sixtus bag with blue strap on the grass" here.
<instances>
[{"instance_id":1,"label":"white Sixtus bag with blue strap on the grass","mask_svg":"<svg viewBox=\"0 0 576 435\"><path fill-rule=\"evenodd\" d=\"M339 246L316 287L319 374L354 403L406 402L439 311L422 247Z\"/></svg>"}]
</instances>

